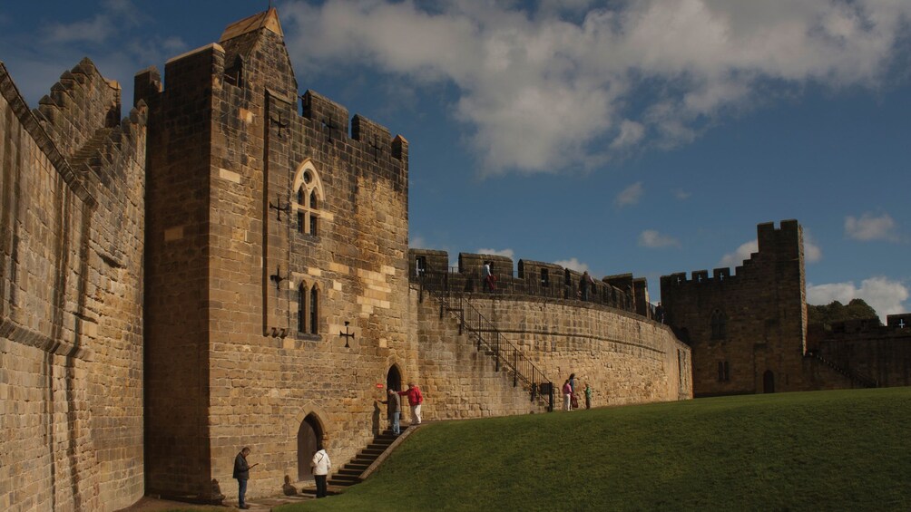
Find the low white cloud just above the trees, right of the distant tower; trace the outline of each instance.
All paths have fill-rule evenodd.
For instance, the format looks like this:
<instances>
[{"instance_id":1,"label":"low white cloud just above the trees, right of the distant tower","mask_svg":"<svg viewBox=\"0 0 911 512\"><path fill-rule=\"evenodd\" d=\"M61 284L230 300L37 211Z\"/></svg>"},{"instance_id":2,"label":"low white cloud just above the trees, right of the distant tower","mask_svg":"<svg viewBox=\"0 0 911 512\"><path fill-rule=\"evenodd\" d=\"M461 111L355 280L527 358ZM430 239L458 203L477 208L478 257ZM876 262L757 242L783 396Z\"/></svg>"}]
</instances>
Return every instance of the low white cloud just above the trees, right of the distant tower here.
<instances>
[{"instance_id":1,"label":"low white cloud just above the trees, right of the distant tower","mask_svg":"<svg viewBox=\"0 0 911 512\"><path fill-rule=\"evenodd\" d=\"M876 310L883 323L885 316L909 310L909 305L905 304L908 296L908 287L904 283L883 276L864 279L860 287L856 287L853 281L806 286L807 304L823 306L834 300L847 304L853 298L862 298Z\"/></svg>"}]
</instances>

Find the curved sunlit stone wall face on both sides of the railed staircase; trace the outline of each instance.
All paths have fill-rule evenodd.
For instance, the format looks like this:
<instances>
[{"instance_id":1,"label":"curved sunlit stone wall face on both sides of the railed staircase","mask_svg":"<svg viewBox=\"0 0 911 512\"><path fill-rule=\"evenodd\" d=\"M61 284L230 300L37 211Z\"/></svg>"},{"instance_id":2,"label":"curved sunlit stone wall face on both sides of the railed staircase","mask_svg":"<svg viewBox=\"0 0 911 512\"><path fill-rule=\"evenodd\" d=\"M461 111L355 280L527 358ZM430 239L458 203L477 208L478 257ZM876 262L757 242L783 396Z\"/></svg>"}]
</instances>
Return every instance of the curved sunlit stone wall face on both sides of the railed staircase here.
<instances>
[{"instance_id":1,"label":"curved sunlit stone wall face on both sides of the railed staircase","mask_svg":"<svg viewBox=\"0 0 911 512\"><path fill-rule=\"evenodd\" d=\"M667 326L605 306L534 296L487 298L476 294L476 308L507 339L533 360L556 387L570 373L577 376L580 404L585 383L593 388L594 407L680 400L692 397L691 357ZM429 295L418 302L412 292L413 324L421 379L427 398L425 414L461 418L527 414L530 405L521 387L512 387L506 372L496 374L494 361L467 336Z\"/></svg>"}]
</instances>

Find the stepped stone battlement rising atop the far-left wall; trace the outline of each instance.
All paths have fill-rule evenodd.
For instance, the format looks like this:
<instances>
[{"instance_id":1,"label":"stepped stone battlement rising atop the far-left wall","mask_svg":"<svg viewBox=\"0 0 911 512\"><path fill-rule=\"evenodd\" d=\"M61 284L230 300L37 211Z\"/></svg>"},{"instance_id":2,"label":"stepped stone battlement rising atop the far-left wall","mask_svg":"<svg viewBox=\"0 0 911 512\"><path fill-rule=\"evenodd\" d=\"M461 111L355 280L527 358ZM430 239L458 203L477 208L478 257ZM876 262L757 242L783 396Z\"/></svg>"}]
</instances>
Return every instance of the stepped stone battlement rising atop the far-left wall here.
<instances>
[{"instance_id":1,"label":"stepped stone battlement rising atop the far-left wall","mask_svg":"<svg viewBox=\"0 0 911 512\"><path fill-rule=\"evenodd\" d=\"M72 155L97 129L118 125L120 85L86 57L60 75L33 113L60 151Z\"/></svg>"}]
</instances>

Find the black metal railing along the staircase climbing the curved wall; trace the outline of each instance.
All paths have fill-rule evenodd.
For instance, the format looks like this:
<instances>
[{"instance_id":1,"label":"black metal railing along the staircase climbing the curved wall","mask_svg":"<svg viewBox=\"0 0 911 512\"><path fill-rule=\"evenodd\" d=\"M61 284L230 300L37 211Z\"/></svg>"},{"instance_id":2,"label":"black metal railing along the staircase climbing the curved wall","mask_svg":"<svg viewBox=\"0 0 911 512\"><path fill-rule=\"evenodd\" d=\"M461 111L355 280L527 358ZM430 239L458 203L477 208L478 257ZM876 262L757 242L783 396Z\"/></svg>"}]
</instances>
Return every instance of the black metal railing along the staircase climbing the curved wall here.
<instances>
[{"instance_id":1,"label":"black metal railing along the staircase climbing the curved wall","mask_svg":"<svg viewBox=\"0 0 911 512\"><path fill-rule=\"evenodd\" d=\"M553 383L517 346L510 343L486 316L477 310L471 302L471 294L451 290L448 282L447 272L434 272L429 268L423 268L417 275L422 299L425 291L434 296L440 303L441 318L448 310L458 320L459 334L467 333L476 344L477 350L484 348L494 357L496 371L505 367L508 372L512 372L513 387L517 387L521 383L522 387L530 393L531 401L545 400L548 411L553 411Z\"/></svg>"}]
</instances>

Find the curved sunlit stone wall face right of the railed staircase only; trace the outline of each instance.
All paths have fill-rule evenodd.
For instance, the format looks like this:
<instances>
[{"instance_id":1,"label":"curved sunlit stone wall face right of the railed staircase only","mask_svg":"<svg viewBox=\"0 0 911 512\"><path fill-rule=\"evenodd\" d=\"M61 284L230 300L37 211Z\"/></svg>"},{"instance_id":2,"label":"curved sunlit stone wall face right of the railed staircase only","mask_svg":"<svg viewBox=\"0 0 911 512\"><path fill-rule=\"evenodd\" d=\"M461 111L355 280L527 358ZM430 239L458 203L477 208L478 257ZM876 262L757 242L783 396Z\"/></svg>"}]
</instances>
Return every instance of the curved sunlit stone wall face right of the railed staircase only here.
<instances>
[{"instance_id":1,"label":"curved sunlit stone wall face right of the railed staircase only","mask_svg":"<svg viewBox=\"0 0 911 512\"><path fill-rule=\"evenodd\" d=\"M562 386L576 374L595 406L692 397L690 348L667 326L606 306L537 297L481 298L476 307Z\"/></svg>"}]
</instances>

